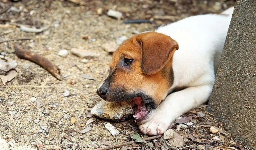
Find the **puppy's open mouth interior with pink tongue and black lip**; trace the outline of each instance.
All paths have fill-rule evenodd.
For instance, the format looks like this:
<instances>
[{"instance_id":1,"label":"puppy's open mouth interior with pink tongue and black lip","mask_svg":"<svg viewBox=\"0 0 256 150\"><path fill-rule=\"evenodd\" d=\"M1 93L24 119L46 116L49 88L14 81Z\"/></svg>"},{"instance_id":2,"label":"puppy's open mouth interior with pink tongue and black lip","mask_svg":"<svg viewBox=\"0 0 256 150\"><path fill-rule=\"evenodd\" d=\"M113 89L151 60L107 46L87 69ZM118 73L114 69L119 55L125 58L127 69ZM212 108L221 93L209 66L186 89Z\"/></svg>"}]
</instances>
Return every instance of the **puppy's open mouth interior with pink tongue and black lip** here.
<instances>
[{"instance_id":1,"label":"puppy's open mouth interior with pink tongue and black lip","mask_svg":"<svg viewBox=\"0 0 256 150\"><path fill-rule=\"evenodd\" d=\"M150 112L156 108L152 99L134 97L132 100L136 104L136 110L133 117L137 122L141 122L142 120L146 119Z\"/></svg>"}]
</instances>

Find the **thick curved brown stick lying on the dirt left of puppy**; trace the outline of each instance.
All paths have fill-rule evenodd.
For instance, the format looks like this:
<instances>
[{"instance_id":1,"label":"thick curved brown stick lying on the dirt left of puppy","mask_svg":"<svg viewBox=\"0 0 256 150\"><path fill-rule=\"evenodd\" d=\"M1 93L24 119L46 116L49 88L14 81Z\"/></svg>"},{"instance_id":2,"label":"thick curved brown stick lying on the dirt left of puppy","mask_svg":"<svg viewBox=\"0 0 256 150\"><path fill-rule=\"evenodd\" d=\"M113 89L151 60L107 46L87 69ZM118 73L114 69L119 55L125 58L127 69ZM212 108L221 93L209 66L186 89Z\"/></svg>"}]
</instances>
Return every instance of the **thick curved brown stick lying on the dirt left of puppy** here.
<instances>
[{"instance_id":1,"label":"thick curved brown stick lying on the dirt left of puppy","mask_svg":"<svg viewBox=\"0 0 256 150\"><path fill-rule=\"evenodd\" d=\"M36 53L31 52L30 50L21 50L17 44L14 45L15 54L22 58L27 59L32 62L35 62L36 64L43 67L45 70L49 71L53 76L55 76L57 79L62 80L61 78L61 72L60 68L58 68L56 65L51 63L48 59L46 59L43 56L40 56Z\"/></svg>"}]
</instances>

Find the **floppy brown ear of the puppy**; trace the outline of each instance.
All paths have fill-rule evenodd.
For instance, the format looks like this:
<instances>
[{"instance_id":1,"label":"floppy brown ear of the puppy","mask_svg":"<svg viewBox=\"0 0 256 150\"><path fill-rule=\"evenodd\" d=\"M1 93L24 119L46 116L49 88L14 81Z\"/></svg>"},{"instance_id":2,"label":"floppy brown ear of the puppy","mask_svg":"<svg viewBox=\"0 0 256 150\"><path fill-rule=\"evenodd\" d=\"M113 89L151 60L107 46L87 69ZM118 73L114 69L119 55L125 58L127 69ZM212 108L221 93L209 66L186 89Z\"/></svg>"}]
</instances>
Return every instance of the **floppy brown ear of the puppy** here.
<instances>
[{"instance_id":1,"label":"floppy brown ear of the puppy","mask_svg":"<svg viewBox=\"0 0 256 150\"><path fill-rule=\"evenodd\" d=\"M157 32L139 34L137 42L142 47L141 69L147 75L160 71L172 57L172 52L179 49L171 37Z\"/></svg>"}]
</instances>

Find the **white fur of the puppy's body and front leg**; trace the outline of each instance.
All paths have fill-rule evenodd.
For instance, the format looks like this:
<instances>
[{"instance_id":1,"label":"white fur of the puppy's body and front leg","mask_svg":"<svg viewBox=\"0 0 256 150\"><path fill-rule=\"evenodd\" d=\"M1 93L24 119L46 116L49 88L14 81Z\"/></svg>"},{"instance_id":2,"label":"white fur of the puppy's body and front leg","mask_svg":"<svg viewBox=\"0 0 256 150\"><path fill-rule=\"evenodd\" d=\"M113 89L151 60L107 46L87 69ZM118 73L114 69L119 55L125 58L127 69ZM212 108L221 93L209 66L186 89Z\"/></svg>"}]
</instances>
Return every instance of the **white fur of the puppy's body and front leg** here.
<instances>
[{"instance_id":1,"label":"white fur of the puppy's body and front leg","mask_svg":"<svg viewBox=\"0 0 256 150\"><path fill-rule=\"evenodd\" d=\"M156 30L170 36L179 45L173 56L174 83L168 92L177 87L186 88L168 95L153 118L139 127L142 132L162 134L177 117L207 101L232 12L233 7L222 15L192 16Z\"/></svg>"}]
</instances>

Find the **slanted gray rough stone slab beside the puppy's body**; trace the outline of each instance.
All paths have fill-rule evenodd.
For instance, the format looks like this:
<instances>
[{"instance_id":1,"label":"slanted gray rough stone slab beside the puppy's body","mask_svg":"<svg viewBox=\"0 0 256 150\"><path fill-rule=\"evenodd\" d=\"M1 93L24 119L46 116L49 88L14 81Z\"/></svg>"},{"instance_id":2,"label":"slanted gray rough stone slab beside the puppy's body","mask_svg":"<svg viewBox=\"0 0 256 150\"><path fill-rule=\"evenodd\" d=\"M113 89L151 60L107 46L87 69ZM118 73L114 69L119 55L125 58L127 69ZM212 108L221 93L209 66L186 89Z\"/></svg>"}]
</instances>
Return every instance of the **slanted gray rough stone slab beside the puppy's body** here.
<instances>
[{"instance_id":1,"label":"slanted gray rough stone slab beside the puppy's body","mask_svg":"<svg viewBox=\"0 0 256 150\"><path fill-rule=\"evenodd\" d=\"M208 109L235 141L256 149L256 1L237 0Z\"/></svg>"}]
</instances>

